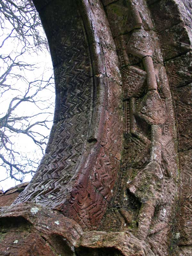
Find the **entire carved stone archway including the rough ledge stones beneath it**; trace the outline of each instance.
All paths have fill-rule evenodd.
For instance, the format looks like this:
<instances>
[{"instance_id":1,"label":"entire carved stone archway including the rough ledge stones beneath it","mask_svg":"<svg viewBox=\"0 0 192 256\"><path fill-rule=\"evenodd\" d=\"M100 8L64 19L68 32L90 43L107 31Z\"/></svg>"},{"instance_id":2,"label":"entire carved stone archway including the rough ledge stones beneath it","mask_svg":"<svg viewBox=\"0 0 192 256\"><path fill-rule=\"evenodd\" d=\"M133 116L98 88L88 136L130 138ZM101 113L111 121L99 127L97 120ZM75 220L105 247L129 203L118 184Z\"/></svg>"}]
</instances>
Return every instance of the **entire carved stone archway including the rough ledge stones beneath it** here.
<instances>
[{"instance_id":1,"label":"entire carved stone archway including the rough ledge stones beneath it","mask_svg":"<svg viewBox=\"0 0 192 256\"><path fill-rule=\"evenodd\" d=\"M190 1L33 2L54 123L0 255L191 255Z\"/></svg>"}]
</instances>

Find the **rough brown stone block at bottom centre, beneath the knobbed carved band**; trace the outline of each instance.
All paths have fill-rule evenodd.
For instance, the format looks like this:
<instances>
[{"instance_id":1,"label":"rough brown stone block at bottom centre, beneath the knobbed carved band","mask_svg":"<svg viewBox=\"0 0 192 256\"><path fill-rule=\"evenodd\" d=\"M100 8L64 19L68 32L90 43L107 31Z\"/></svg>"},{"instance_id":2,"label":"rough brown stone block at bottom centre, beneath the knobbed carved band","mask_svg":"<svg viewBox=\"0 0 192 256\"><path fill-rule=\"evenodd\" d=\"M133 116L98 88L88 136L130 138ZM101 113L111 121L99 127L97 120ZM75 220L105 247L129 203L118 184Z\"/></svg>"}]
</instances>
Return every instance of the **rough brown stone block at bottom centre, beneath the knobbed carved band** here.
<instances>
[{"instance_id":1,"label":"rough brown stone block at bottom centre, beneath the knobbed carved band","mask_svg":"<svg viewBox=\"0 0 192 256\"><path fill-rule=\"evenodd\" d=\"M149 246L130 232L85 232L77 247L78 256L154 256Z\"/></svg>"}]
</instances>

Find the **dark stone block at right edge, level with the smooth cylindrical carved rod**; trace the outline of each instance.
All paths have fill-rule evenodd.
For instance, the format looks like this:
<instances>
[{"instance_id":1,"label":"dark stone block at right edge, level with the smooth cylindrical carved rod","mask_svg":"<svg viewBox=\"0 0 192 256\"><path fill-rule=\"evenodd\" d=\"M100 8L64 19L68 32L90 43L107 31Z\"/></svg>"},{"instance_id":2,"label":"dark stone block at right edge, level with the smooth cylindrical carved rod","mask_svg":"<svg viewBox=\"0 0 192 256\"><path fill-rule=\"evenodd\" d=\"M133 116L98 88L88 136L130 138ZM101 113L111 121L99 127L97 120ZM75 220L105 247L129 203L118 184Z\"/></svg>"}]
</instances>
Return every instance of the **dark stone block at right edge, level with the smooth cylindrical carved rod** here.
<instances>
[{"instance_id":1,"label":"dark stone block at right edge, level with the smooth cylindrical carved rod","mask_svg":"<svg viewBox=\"0 0 192 256\"><path fill-rule=\"evenodd\" d=\"M165 68L172 88L192 82L192 52L165 62Z\"/></svg>"}]
</instances>

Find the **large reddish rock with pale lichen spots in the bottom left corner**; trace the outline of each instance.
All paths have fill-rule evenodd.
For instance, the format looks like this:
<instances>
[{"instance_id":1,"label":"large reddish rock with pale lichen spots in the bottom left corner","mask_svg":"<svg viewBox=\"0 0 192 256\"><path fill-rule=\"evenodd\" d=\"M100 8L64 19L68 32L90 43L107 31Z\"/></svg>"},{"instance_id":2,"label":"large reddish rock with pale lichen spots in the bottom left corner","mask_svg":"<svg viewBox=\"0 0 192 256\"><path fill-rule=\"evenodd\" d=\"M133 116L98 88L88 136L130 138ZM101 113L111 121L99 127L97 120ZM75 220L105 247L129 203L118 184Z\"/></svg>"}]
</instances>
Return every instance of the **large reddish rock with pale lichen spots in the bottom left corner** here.
<instances>
[{"instance_id":1,"label":"large reddish rock with pale lichen spots in the bottom left corner","mask_svg":"<svg viewBox=\"0 0 192 256\"><path fill-rule=\"evenodd\" d=\"M80 226L34 203L0 208L0 255L74 255Z\"/></svg>"}]
</instances>

